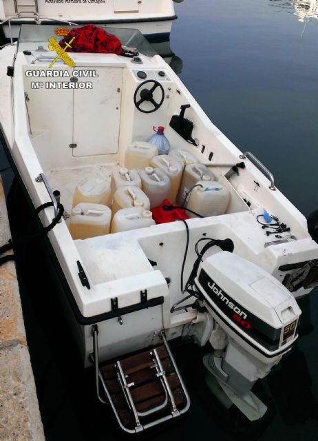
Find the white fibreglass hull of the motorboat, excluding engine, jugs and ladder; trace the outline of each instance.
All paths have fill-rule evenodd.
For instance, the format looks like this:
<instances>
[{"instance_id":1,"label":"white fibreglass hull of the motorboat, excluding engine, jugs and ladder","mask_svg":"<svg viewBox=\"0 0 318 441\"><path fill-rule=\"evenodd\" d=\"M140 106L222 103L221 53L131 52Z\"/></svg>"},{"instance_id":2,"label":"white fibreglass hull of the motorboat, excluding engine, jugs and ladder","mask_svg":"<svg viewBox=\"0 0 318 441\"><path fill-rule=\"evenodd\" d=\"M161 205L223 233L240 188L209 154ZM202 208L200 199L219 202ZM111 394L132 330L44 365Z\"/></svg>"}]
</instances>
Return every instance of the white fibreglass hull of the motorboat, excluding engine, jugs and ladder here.
<instances>
[{"instance_id":1,"label":"white fibreglass hull of the motorboat, excluding engine, jugs and ladder","mask_svg":"<svg viewBox=\"0 0 318 441\"><path fill-rule=\"evenodd\" d=\"M40 27L36 26L36 31L38 28ZM43 34L41 43L45 44L47 35L52 34L51 28L49 31ZM33 50L36 50L38 44L38 39L33 42ZM30 45L31 43L28 42L28 48ZM5 49L11 50L11 48ZM90 95L81 95L83 98L81 102L87 105L92 99L98 103L98 106L99 104L104 106L105 103L112 105L112 108L120 110L120 121L125 121L123 124L125 130L119 131L118 118L117 125L109 123L109 118L104 118L103 125L106 126L107 123L105 133L104 127L95 130L95 122L100 123L100 120L95 121L94 113L79 112L81 108L74 105L78 94L72 94L71 90L69 94L65 92L61 105L61 94L57 93L59 91L50 92L49 96L46 94L46 90L49 90L46 87L41 89L41 92L32 88L29 75L25 74L25 68L31 73L34 71L36 77L37 72L46 74L47 66L41 60L38 60L34 66L34 63L29 62L26 57L29 57L28 54L20 52L14 65L12 80L14 139L10 147L8 143L7 151L12 156L14 172L21 176L23 186L27 189L28 197L34 207L47 202L47 189L39 179L39 176L45 173L52 189L61 190L61 202L70 213L74 188L79 181L87 176L99 176L98 174L105 179L109 178L116 163L123 164L127 145L134 139L145 139L147 127L151 127L156 121L163 121L166 122L165 133L171 145L182 147L185 152L192 152L191 154L201 163L211 162L213 157L216 166L213 170L215 173L218 172L219 182L231 191L231 201L225 213L189 219L187 225L189 225L191 243L187 257L188 265L191 265L195 258L194 244L206 235L221 240L231 239L235 254L257 263L277 280L284 280L286 276L283 265L298 265L305 260L317 258L317 244L313 243L306 230L304 216L278 189L268 187L268 179L251 161L246 160L244 173L235 175L231 177L231 181L229 180L224 167L227 169L229 163L237 163L239 158L242 158L242 152L209 121L178 76L160 57L153 56L147 59L146 55L140 54L142 68L148 72L149 78L151 75L158 78L156 83L162 85L166 98L156 115L144 116L142 112L138 112L136 103L134 105L134 94L142 83L138 79L136 67L130 64L131 61L112 54L107 56L98 54L98 63L102 65L94 66L94 63L97 63L94 60L96 55L72 54L74 62L78 65L76 72L80 72L85 66L90 72L93 65L94 72L98 72L101 79L107 79L100 82L98 79L92 79L95 81L94 94L89 92ZM56 71L59 72L57 67ZM68 68L63 68L63 72L68 72ZM47 78L50 76L47 75ZM106 99L103 88L105 83L114 85L109 88L110 92ZM120 94L123 96L120 97ZM26 96L28 102L17 105L18 99L23 100ZM50 106L47 105L48 102ZM190 147L189 142L171 125L173 116L178 114L180 105L184 107L184 103L189 103L186 104L186 107L189 107L187 116L189 122L194 121L194 136L195 139L200 140L200 146L198 142ZM99 110L104 111L103 106L99 106ZM88 107L93 108L93 105ZM57 108L59 112L56 112ZM114 114L113 112L112 115ZM80 118L83 115L85 121ZM47 121L50 121L49 125ZM63 125L59 124L59 121L63 121ZM78 124L83 127L89 121L87 127L95 130L91 136L94 142L84 142L83 136L76 137L77 126L74 126L74 121L76 123L80 121ZM112 136L117 139L117 152L107 150L109 145L103 142L105 136L108 139ZM78 150L74 153L69 147L74 146L75 141ZM100 144L97 141L103 146L104 150L102 149L101 152L92 150L97 147L99 149ZM85 145L89 146L89 150L80 150ZM78 152L82 153L78 154ZM39 157L36 154L39 154ZM255 191L255 181L257 191ZM280 245L268 244L268 236L257 222L257 218L263 216L264 206L268 212L288 222L288 230L290 229L297 240L291 239L292 241ZM47 225L52 222L53 209L47 208L40 216L43 225ZM74 334L86 366L89 364L89 353L92 352L92 326L96 323L100 327L99 349L103 361L120 356L127 350L134 351L148 346L156 333L162 329L167 330L168 340L178 338L182 334L184 325L188 329L187 325L199 316L199 312L191 310L181 314L171 313L171 307L183 297L180 289L180 268L184 259L186 238L182 223L155 225L148 229L96 236L85 240L72 240L66 221L57 224L50 232L46 243L56 272L64 285L66 294L62 294L61 298L68 309L67 316L73 323ZM184 280L190 269L191 267L186 267ZM88 286L87 283L83 283L83 274L89 282ZM295 292L295 297L304 296L309 291L310 289L301 288ZM136 322L142 323L140 331L134 327L131 313L136 314L135 317L138 316ZM114 332L109 331L109 326Z\"/></svg>"}]
</instances>

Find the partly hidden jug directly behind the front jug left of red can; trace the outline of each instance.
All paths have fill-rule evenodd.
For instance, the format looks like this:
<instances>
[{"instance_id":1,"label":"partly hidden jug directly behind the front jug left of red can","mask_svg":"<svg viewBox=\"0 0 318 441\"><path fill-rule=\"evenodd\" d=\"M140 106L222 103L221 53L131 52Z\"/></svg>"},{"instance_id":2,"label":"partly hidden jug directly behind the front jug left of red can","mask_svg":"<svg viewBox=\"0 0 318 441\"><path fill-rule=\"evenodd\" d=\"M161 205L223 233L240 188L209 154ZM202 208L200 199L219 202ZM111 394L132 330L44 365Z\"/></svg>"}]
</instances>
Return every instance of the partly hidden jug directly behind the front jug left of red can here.
<instances>
[{"instance_id":1,"label":"partly hidden jug directly behind the front jug left of red can","mask_svg":"<svg viewBox=\"0 0 318 441\"><path fill-rule=\"evenodd\" d=\"M142 189L138 187L119 187L114 193L112 204L112 216L118 212L118 209L128 207L143 207L150 209L150 201Z\"/></svg>"}]
</instances>

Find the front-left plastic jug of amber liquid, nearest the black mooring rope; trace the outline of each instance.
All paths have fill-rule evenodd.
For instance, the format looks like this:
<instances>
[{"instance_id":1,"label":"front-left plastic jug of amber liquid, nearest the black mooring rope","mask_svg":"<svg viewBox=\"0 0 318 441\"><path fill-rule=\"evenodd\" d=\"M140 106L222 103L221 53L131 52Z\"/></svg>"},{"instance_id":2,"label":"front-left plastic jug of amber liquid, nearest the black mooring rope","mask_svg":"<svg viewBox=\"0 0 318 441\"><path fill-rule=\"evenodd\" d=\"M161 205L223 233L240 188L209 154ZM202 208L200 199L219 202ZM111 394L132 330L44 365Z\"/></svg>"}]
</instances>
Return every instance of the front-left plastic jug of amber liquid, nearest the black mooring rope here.
<instances>
[{"instance_id":1,"label":"front-left plastic jug of amber liquid, nearest the black mooring rope","mask_svg":"<svg viewBox=\"0 0 318 441\"><path fill-rule=\"evenodd\" d=\"M109 233L112 211L106 205L79 203L72 209L70 233L73 239L87 239Z\"/></svg>"}]
</instances>

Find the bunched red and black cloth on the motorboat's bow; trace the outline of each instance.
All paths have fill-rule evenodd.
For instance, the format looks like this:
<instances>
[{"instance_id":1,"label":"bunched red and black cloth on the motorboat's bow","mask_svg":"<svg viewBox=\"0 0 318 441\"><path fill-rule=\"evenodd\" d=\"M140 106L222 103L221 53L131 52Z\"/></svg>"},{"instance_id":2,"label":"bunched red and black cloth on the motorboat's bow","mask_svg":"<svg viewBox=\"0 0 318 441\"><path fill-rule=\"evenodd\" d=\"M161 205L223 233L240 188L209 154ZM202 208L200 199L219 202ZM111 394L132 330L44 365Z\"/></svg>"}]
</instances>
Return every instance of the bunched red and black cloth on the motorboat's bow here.
<instances>
[{"instance_id":1,"label":"bunched red and black cloth on the motorboat's bow","mask_svg":"<svg viewBox=\"0 0 318 441\"><path fill-rule=\"evenodd\" d=\"M66 52L94 52L98 54L117 54L121 52L121 41L103 28L96 25L85 25L81 28L74 28L67 34L67 37L60 41L64 48L64 43L75 37L72 41L72 48L67 48Z\"/></svg>"}]
</instances>

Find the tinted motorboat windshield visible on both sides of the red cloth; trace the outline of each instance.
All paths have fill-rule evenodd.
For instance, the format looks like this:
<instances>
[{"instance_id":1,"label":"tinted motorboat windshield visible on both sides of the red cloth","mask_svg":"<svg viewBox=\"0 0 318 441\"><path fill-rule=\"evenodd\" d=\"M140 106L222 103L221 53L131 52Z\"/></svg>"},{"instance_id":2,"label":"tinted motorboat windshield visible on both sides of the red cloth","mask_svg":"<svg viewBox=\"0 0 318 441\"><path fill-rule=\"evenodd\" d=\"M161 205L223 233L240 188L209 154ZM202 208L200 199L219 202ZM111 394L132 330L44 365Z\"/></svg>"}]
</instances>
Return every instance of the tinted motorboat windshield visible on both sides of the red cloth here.
<instances>
[{"instance_id":1,"label":"tinted motorboat windshield visible on both sides of the red cloth","mask_svg":"<svg viewBox=\"0 0 318 441\"><path fill-rule=\"evenodd\" d=\"M153 55L157 54L151 44L137 29L112 28L109 25L98 25L98 27L105 29L109 34L116 35L116 37L120 39L122 45L128 46L129 48L136 48L141 54L144 54L147 57L153 57ZM55 34L54 31L56 28L71 30L74 28L81 28L81 26L64 25L63 23L61 23L61 25L21 25L19 45L21 44L24 50L25 43L46 44L50 37L54 37L57 41L60 41L63 37L58 37Z\"/></svg>"}]
</instances>

